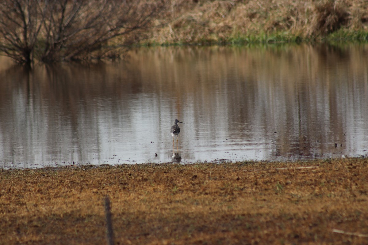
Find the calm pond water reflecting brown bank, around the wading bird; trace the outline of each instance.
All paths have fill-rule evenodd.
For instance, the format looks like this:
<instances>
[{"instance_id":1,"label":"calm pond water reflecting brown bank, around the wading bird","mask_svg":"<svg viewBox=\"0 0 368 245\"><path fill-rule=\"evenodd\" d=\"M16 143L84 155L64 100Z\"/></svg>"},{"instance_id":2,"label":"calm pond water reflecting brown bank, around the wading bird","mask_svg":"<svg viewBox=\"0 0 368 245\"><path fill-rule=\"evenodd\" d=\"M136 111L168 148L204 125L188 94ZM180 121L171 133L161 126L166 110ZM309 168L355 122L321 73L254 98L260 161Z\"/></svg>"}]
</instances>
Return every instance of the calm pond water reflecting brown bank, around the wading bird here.
<instances>
[{"instance_id":1,"label":"calm pond water reflecting brown bank, around the wading bird","mask_svg":"<svg viewBox=\"0 0 368 245\"><path fill-rule=\"evenodd\" d=\"M175 119L184 163L367 156L368 45L141 48L32 71L0 57L0 103L0 167L170 162Z\"/></svg>"}]
</instances>

